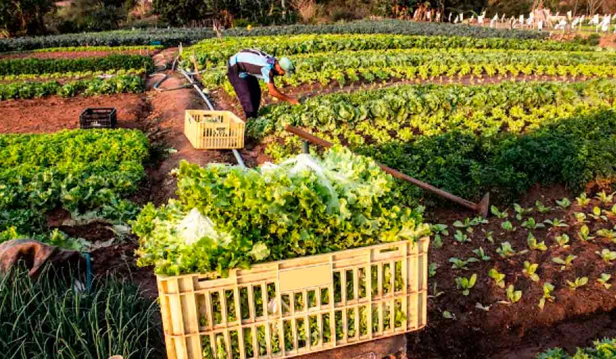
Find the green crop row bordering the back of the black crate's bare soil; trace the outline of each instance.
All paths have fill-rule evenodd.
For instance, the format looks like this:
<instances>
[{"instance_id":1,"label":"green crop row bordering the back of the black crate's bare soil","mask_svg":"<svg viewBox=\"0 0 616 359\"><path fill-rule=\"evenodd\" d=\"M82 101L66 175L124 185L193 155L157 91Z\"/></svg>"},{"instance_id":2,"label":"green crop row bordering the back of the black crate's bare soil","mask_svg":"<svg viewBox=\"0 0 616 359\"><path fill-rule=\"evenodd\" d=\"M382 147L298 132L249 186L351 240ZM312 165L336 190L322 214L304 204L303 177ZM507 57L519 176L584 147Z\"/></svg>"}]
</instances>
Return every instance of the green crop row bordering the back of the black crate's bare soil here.
<instances>
[{"instance_id":1,"label":"green crop row bordering the back of the black crate's bare soil","mask_svg":"<svg viewBox=\"0 0 616 359\"><path fill-rule=\"evenodd\" d=\"M118 75L105 79L81 79L63 84L58 81L10 83L0 84L0 100L33 99L50 95L75 97L79 94L89 96L124 92L138 93L144 91L144 87L143 77L137 75Z\"/></svg>"}]
</instances>

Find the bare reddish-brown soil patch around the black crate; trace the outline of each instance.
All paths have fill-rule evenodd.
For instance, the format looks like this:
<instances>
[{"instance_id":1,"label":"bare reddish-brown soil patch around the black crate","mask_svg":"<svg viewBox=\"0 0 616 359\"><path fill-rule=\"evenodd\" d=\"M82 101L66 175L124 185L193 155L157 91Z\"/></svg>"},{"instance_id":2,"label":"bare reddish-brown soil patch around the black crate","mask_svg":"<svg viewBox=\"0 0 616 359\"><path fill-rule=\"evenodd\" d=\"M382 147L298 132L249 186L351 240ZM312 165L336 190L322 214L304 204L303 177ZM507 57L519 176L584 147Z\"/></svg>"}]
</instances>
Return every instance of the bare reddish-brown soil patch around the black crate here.
<instances>
[{"instance_id":1,"label":"bare reddish-brown soil patch around the black crate","mask_svg":"<svg viewBox=\"0 0 616 359\"><path fill-rule=\"evenodd\" d=\"M118 126L139 127L137 122L147 113L148 105L139 94L0 101L0 132L43 133L79 128L79 114L89 107L115 107Z\"/></svg>"}]
</instances>

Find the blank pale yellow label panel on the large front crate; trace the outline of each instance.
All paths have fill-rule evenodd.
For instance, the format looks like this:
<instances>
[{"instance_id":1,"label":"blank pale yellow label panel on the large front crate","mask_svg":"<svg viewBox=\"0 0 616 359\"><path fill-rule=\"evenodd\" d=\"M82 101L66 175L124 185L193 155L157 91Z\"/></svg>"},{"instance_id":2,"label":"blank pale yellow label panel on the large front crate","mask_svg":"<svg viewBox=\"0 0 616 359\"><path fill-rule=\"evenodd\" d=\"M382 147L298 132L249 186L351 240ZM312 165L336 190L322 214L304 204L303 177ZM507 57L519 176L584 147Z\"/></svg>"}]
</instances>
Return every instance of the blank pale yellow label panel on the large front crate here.
<instances>
[{"instance_id":1,"label":"blank pale yellow label panel on the large front crate","mask_svg":"<svg viewBox=\"0 0 616 359\"><path fill-rule=\"evenodd\" d=\"M322 264L278 273L280 291L297 291L304 288L323 287L331 284L331 265Z\"/></svg>"}]
</instances>

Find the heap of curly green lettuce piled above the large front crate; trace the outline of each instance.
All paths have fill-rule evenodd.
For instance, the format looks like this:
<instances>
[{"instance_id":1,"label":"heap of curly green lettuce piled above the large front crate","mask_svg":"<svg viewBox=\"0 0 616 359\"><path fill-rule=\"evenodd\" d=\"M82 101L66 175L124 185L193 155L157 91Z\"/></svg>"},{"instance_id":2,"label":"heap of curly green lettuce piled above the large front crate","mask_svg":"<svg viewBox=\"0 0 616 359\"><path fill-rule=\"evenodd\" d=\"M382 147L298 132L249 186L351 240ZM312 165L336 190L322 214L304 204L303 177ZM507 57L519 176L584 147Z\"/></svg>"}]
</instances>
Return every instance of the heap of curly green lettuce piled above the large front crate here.
<instances>
[{"instance_id":1,"label":"heap of curly green lettuce piled above the large front crate","mask_svg":"<svg viewBox=\"0 0 616 359\"><path fill-rule=\"evenodd\" d=\"M295 171L301 160L252 171L182 161L176 171L179 199L145 206L133 225L140 238L138 265L155 265L159 274L216 278L257 262L413 241L429 233L423 208L398 206L394 180L372 159L336 146L310 159L323 175L309 167ZM174 228L188 216L205 217L212 230L187 241ZM358 216L371 220L357 222Z\"/></svg>"}]
</instances>

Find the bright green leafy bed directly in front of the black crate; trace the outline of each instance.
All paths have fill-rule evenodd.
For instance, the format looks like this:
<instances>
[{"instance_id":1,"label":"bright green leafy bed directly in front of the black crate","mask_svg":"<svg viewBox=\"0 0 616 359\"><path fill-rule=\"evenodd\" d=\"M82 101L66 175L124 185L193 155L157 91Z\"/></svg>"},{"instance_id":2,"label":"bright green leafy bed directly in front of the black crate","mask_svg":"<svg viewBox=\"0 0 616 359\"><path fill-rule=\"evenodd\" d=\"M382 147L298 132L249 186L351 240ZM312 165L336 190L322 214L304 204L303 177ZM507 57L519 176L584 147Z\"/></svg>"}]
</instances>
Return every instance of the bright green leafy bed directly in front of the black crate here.
<instances>
[{"instance_id":1,"label":"bright green leafy bed directly in front of the black crate","mask_svg":"<svg viewBox=\"0 0 616 359\"><path fill-rule=\"evenodd\" d=\"M59 207L129 219L137 209L123 198L137 190L147 158L140 131L0 135L0 238L45 232L44 213Z\"/></svg>"}]
</instances>

